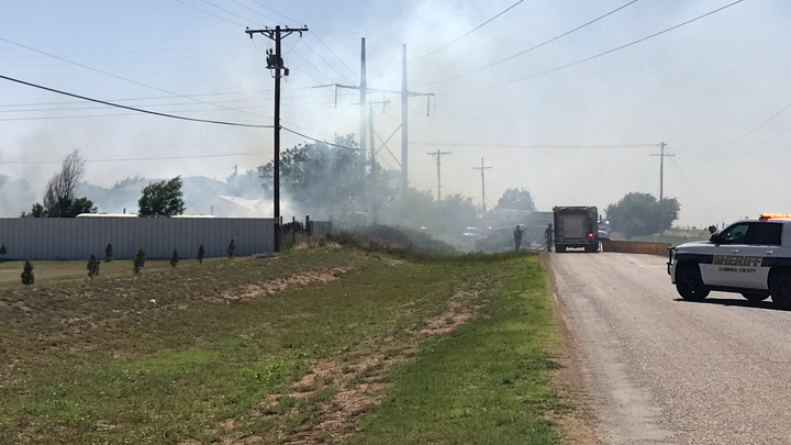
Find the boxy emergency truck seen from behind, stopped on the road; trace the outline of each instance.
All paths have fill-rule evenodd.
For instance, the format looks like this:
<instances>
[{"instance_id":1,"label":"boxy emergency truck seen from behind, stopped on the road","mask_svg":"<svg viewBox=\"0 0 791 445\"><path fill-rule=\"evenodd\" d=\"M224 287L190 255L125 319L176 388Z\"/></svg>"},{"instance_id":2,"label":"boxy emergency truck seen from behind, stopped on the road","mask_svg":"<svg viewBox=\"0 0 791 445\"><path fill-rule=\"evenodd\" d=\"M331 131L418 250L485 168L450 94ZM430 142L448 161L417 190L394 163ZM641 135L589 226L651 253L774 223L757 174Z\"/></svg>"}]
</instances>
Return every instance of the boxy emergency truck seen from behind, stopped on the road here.
<instances>
[{"instance_id":1,"label":"boxy emergency truck seen from behind, stopped on the road","mask_svg":"<svg viewBox=\"0 0 791 445\"><path fill-rule=\"evenodd\" d=\"M599 252L599 210L595 207L555 207L555 252L583 247Z\"/></svg>"}]
</instances>

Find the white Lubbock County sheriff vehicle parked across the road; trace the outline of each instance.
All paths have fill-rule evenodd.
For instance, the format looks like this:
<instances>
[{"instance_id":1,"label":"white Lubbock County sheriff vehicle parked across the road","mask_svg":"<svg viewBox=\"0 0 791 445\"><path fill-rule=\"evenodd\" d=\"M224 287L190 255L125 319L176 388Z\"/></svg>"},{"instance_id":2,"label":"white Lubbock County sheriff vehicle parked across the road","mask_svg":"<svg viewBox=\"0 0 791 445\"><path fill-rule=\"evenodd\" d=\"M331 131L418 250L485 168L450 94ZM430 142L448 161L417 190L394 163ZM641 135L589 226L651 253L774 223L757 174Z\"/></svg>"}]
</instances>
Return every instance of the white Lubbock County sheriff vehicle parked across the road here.
<instances>
[{"instance_id":1,"label":"white Lubbock County sheriff vehicle parked across the road","mask_svg":"<svg viewBox=\"0 0 791 445\"><path fill-rule=\"evenodd\" d=\"M668 274L681 298L701 301L712 290L769 296L791 308L791 214L764 213L713 233L709 241L670 248Z\"/></svg>"}]
</instances>

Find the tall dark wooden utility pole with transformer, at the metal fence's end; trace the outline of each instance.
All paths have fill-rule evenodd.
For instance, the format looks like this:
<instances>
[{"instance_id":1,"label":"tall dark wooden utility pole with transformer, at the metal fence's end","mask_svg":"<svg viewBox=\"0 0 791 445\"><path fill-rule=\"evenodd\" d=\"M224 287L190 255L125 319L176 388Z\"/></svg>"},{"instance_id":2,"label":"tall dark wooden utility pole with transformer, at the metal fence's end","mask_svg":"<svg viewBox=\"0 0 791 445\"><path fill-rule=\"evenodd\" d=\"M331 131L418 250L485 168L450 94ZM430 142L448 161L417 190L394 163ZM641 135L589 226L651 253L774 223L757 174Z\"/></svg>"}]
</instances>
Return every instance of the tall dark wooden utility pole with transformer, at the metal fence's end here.
<instances>
[{"instance_id":1,"label":"tall dark wooden utility pole with transformer, at the metal fence's end","mask_svg":"<svg viewBox=\"0 0 791 445\"><path fill-rule=\"evenodd\" d=\"M267 53L267 68L274 71L272 77L275 77L275 157L272 159L272 164L275 166L275 171L272 173L275 252L280 252L280 78L289 75L288 68L283 65L280 41L293 33L299 33L301 37L302 32L304 31L308 31L307 26L299 29L275 26L274 30L266 27L264 30L247 29L245 31L250 38L253 38L253 34L263 34L275 41L275 53L272 53L271 49Z\"/></svg>"}]
</instances>

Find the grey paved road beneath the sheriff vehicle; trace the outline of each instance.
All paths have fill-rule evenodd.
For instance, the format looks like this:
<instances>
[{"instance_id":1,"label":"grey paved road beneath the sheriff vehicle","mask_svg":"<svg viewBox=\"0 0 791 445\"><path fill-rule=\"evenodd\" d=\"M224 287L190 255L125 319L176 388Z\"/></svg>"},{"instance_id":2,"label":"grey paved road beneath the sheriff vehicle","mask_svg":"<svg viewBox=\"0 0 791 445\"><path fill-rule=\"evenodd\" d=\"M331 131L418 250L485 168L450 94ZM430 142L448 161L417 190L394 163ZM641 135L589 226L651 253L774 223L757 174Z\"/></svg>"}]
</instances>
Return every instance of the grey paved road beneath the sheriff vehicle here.
<instances>
[{"instance_id":1,"label":"grey paved road beneath the sheriff vehicle","mask_svg":"<svg viewBox=\"0 0 791 445\"><path fill-rule=\"evenodd\" d=\"M665 262L549 255L600 438L791 444L791 312L737 293L681 301Z\"/></svg>"}]
</instances>

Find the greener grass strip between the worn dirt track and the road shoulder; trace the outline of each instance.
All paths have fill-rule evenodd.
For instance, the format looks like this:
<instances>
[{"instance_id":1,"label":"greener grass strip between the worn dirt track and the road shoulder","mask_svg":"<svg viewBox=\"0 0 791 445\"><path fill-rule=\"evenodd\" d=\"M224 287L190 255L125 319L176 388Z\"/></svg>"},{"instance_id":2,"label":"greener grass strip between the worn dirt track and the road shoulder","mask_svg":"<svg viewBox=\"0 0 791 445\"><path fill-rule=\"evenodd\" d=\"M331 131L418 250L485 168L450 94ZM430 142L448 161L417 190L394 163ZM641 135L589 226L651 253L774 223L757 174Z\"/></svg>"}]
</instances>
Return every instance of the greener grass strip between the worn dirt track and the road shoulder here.
<instances>
[{"instance_id":1,"label":"greener grass strip between the worn dirt track and the road shoulder","mask_svg":"<svg viewBox=\"0 0 791 445\"><path fill-rule=\"evenodd\" d=\"M499 265L484 319L427 345L394 376L387 401L350 444L552 444L548 411L568 408L549 385L559 337L536 257Z\"/></svg>"}]
</instances>

